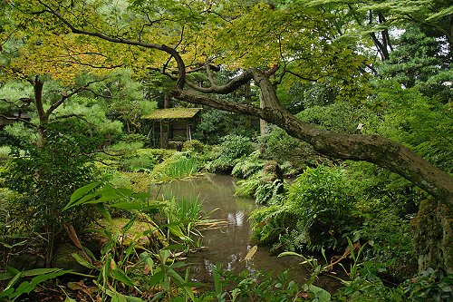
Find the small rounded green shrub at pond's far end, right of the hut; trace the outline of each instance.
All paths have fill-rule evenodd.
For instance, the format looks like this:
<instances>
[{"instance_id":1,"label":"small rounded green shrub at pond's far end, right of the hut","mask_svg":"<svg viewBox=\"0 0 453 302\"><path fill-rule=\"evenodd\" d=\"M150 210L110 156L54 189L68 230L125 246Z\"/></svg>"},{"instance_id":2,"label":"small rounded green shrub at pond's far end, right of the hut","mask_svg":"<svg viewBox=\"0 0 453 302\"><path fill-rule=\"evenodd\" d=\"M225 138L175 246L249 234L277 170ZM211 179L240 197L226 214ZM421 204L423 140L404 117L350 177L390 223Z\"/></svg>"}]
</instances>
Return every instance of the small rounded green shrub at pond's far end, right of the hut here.
<instances>
[{"instance_id":1,"label":"small rounded green shrub at pond's far end, right of the hut","mask_svg":"<svg viewBox=\"0 0 453 302\"><path fill-rule=\"evenodd\" d=\"M249 138L226 135L219 150L211 154L213 161L208 162L207 170L212 172L230 171L238 159L255 151L255 144Z\"/></svg>"}]
</instances>

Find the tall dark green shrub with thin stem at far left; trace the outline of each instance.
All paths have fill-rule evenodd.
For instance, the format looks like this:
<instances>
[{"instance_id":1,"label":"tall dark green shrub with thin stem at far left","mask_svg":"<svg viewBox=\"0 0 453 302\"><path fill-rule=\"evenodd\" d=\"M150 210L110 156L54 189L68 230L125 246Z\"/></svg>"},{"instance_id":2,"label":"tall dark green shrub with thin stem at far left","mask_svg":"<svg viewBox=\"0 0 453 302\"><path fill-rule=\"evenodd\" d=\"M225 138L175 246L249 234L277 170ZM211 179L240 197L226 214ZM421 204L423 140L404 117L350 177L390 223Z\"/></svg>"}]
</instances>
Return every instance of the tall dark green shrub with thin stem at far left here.
<instances>
[{"instance_id":1,"label":"tall dark green shrub with thin stem at far left","mask_svg":"<svg viewBox=\"0 0 453 302\"><path fill-rule=\"evenodd\" d=\"M88 154L96 149L100 138L83 134L87 132L77 122L48 125L42 146L24 144L24 153L13 149L13 159L3 175L8 188L24 194L18 204L29 209L31 215L21 219L31 224L35 232L47 234L47 265L63 223L82 227L88 222L80 209L62 212L72 191L93 179L92 158Z\"/></svg>"}]
</instances>

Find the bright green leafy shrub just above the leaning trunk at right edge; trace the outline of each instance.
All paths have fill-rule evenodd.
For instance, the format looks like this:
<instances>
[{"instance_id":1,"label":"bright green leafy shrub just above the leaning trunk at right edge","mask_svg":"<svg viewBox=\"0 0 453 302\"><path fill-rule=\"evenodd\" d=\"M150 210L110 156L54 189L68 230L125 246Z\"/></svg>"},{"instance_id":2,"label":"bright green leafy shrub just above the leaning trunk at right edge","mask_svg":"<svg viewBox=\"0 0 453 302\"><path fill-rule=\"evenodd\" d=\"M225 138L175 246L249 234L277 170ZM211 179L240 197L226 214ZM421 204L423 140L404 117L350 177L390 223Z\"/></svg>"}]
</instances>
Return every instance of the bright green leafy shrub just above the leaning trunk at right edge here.
<instances>
[{"instance_id":1,"label":"bright green leafy shrub just above the leaning trunk at right edge","mask_svg":"<svg viewBox=\"0 0 453 302\"><path fill-rule=\"evenodd\" d=\"M394 82L382 82L375 102L386 110L378 132L404 143L440 169L453 168L451 102L442 104L416 88L402 89Z\"/></svg>"}]
</instances>

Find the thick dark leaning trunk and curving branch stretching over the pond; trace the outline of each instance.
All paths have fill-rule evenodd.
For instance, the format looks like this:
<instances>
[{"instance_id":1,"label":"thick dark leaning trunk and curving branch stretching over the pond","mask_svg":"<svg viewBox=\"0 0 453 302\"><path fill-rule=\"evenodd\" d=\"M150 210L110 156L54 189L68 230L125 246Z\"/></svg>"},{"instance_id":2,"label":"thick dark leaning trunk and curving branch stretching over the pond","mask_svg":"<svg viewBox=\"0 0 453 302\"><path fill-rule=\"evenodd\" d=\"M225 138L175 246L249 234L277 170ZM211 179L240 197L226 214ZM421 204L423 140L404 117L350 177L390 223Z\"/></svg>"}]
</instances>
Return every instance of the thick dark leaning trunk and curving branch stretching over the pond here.
<instances>
[{"instance_id":1,"label":"thick dark leaning trunk and curving branch stretching over the pond","mask_svg":"<svg viewBox=\"0 0 453 302\"><path fill-rule=\"evenodd\" d=\"M42 3L42 1L40 2ZM173 96L179 100L203 104L228 112L255 115L267 122L274 123L291 136L310 143L315 151L343 160L374 163L410 180L421 189L429 192L432 196L447 203L449 207L453 206L453 178L447 173L439 170L428 161L423 160L414 151L411 151L398 142L390 141L377 135L329 132L300 121L281 107L275 93L275 87L270 83L266 73L257 70L245 71L241 74L242 76L235 77L230 83L222 86L211 85L208 88L193 86L191 83L187 83L189 87L201 93L232 93L253 77L264 97L265 106L263 109L253 105L219 100L208 95L189 93L184 91L186 84L186 65L180 54L178 54L178 51L174 48L164 44L148 44L141 41L85 31L65 20L62 15L51 7L46 7L49 13L68 26L74 34L90 35L111 43L136 45L170 54L177 63L178 76L173 76L169 73L166 74L170 78L176 79Z\"/></svg>"}]
</instances>

